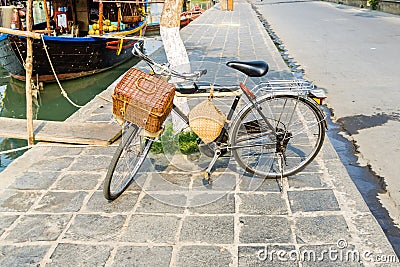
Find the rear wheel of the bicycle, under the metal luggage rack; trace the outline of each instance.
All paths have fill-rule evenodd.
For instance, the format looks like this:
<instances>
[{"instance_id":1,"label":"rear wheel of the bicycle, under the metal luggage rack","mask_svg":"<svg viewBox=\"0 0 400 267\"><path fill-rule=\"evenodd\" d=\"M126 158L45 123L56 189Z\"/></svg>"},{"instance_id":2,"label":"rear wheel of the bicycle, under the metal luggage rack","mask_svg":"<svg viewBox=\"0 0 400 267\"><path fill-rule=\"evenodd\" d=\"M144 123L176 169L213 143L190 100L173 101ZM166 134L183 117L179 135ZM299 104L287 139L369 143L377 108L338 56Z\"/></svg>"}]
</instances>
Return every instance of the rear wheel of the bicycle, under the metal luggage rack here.
<instances>
[{"instance_id":1,"label":"rear wheel of the bicycle, under the metal luggage rack","mask_svg":"<svg viewBox=\"0 0 400 267\"><path fill-rule=\"evenodd\" d=\"M285 129L285 136L292 135L285 150L285 166L282 171L278 165L276 135L252 104L239 112L231 128L230 144L237 163L250 174L265 178L286 177L303 170L324 142L321 109L313 100L291 94L262 96L257 103L275 129Z\"/></svg>"}]
</instances>

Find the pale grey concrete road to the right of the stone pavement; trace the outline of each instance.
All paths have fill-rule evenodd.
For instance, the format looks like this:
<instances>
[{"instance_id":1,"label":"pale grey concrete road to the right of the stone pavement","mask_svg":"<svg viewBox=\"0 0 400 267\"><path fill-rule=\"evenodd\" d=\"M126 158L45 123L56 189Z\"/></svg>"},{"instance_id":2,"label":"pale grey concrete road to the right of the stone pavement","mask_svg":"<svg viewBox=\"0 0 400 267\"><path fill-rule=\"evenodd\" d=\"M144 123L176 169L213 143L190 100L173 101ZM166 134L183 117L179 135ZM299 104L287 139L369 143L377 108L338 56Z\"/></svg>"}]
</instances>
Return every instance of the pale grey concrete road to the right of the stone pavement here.
<instances>
[{"instance_id":1,"label":"pale grey concrete road to the right of the stone pavement","mask_svg":"<svg viewBox=\"0 0 400 267\"><path fill-rule=\"evenodd\" d=\"M254 1L254 0L253 0ZM320 1L257 0L305 78L359 146L359 163L384 178L384 206L400 210L400 17Z\"/></svg>"}]
</instances>

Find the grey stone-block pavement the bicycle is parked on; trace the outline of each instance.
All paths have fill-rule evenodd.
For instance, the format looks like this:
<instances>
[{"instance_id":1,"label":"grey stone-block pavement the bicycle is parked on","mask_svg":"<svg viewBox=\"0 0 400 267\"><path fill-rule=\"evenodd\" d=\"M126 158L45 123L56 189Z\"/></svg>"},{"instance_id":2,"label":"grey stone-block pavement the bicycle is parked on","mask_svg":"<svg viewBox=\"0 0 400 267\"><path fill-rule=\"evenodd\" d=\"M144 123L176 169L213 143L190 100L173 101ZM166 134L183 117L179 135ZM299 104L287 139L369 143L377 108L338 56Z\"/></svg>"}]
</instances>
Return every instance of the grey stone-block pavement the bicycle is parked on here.
<instances>
[{"instance_id":1,"label":"grey stone-block pavement the bicycle is parked on","mask_svg":"<svg viewBox=\"0 0 400 267\"><path fill-rule=\"evenodd\" d=\"M181 34L192 60L263 59L270 78L289 75L247 2L217 5ZM68 120L110 123L111 104L97 97ZM40 145L0 173L0 266L398 264L329 140L283 192L229 157L210 188L186 158L150 155L113 202L102 184L115 146Z\"/></svg>"}]
</instances>

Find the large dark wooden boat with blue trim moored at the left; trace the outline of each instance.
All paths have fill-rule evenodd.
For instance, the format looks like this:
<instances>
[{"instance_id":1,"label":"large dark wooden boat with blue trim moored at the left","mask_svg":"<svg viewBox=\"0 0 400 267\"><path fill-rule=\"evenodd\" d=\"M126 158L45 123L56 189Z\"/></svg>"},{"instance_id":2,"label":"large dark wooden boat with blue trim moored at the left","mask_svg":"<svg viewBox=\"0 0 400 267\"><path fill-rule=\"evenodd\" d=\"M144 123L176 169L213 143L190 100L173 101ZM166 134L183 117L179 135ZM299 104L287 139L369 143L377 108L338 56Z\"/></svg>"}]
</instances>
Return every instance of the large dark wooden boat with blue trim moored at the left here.
<instances>
[{"instance_id":1,"label":"large dark wooden boat with blue trim moored at the left","mask_svg":"<svg viewBox=\"0 0 400 267\"><path fill-rule=\"evenodd\" d=\"M33 32L41 33L33 41L32 77L37 81L75 79L111 69L133 57L137 37L145 34L146 18L137 12L140 4L125 4L129 6L124 9L124 4L111 1L87 0L83 1L87 5L78 7L70 2L69 6L51 2L51 20L33 27ZM122 10L128 12L122 15ZM17 29L24 28L21 21ZM10 27L15 28L13 23ZM26 37L0 34L0 64L15 79L25 80L26 51Z\"/></svg>"}]
</instances>

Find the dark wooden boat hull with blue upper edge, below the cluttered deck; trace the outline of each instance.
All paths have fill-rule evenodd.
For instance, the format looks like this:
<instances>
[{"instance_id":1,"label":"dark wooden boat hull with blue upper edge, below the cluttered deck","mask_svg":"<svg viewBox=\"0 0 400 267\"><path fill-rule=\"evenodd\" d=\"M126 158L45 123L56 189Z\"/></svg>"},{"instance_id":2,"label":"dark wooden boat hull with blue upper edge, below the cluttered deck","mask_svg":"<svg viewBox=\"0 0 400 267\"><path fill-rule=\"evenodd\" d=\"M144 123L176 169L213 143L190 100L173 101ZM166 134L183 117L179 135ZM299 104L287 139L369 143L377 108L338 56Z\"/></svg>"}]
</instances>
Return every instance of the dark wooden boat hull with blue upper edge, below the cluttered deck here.
<instances>
[{"instance_id":1,"label":"dark wooden boat hull with blue upper edge, below the cluttered deck","mask_svg":"<svg viewBox=\"0 0 400 267\"><path fill-rule=\"evenodd\" d=\"M144 34L144 31L142 31ZM46 45L44 49L43 45ZM43 36L33 42L33 73L39 81L75 79L113 68L133 57L137 40L101 37ZM0 35L0 64L18 80L25 80L26 39ZM51 64L50 64L51 62Z\"/></svg>"}]
</instances>

